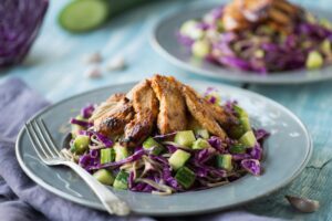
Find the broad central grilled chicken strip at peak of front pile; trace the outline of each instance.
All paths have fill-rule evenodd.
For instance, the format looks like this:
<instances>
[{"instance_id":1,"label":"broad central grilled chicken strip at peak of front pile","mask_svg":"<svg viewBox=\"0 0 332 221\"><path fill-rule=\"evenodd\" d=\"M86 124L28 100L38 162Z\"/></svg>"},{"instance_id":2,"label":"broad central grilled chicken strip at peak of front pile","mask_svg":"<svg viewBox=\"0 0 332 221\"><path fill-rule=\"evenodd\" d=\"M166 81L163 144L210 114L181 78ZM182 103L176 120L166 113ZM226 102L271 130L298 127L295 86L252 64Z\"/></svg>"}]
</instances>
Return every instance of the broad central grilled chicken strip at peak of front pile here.
<instances>
[{"instance_id":1,"label":"broad central grilled chicken strip at peak of front pile","mask_svg":"<svg viewBox=\"0 0 332 221\"><path fill-rule=\"evenodd\" d=\"M160 134L184 130L187 126L186 104L179 83L174 77L155 75L152 87L159 101L157 126Z\"/></svg>"}]
</instances>

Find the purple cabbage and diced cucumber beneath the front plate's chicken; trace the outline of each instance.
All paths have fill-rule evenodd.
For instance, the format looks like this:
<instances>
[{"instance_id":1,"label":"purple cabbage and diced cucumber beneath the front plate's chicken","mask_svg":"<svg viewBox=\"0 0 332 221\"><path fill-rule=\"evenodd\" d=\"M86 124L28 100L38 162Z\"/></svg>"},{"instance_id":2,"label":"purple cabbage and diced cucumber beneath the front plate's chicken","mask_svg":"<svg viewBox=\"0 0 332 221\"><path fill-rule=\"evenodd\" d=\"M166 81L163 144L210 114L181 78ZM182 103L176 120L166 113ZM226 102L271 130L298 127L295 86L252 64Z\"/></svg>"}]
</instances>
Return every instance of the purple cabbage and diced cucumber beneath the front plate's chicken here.
<instances>
[{"instance_id":1,"label":"purple cabbage and diced cucumber beneath the front plate's chicken","mask_svg":"<svg viewBox=\"0 0 332 221\"><path fill-rule=\"evenodd\" d=\"M205 97L219 105L214 90ZM95 131L89 118L96 106L89 105L71 119L70 148L62 152L100 182L137 192L170 194L222 186L247 173L260 176L262 143L269 134L252 128L237 102L226 102L222 107L238 122L225 140L190 125L187 130L166 135L154 131L142 145L127 148L120 144L121 137L111 139Z\"/></svg>"}]
</instances>

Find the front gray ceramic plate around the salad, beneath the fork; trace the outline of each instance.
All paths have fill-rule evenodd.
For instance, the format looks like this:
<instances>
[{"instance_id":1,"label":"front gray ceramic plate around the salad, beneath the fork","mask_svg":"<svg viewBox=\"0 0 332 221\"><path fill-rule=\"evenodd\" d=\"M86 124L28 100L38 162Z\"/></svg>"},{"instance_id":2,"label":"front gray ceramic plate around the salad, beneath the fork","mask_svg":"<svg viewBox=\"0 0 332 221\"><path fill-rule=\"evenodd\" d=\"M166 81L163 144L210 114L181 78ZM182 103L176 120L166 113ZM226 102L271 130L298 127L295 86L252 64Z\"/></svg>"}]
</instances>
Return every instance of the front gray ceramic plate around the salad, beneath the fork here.
<instances>
[{"instance_id":1,"label":"front gray ceramic plate around the salad, beneath the fork","mask_svg":"<svg viewBox=\"0 0 332 221\"><path fill-rule=\"evenodd\" d=\"M267 139L264 173L260 177L245 176L243 178L208 190L177 193L167 197L115 191L126 200L134 212L151 215L179 215L216 211L267 196L292 181L305 167L312 151L310 136L290 110L261 95L231 86L189 82L196 90L204 92L214 86L222 92L225 99L237 99L250 114L257 127L269 130L272 135ZM100 103L116 92L127 92L134 84L110 86L87 92L54 104L40 112L34 117L42 117L50 128L58 145L64 138L64 125L69 118L87 103ZM103 210L89 187L70 169L48 167L35 155L25 129L22 129L17 141L17 158L37 183L68 200L86 207Z\"/></svg>"}]
</instances>

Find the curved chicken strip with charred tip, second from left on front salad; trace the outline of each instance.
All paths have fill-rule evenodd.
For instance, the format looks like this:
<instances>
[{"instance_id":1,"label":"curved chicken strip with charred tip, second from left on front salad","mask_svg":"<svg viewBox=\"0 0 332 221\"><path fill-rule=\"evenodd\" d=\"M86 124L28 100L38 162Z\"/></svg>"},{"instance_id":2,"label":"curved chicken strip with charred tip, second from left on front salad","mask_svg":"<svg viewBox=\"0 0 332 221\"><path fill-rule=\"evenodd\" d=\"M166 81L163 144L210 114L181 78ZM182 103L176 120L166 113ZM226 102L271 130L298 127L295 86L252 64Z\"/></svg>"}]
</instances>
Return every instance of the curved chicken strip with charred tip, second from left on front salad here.
<instances>
[{"instance_id":1,"label":"curved chicken strip with charred tip, second from left on front salad","mask_svg":"<svg viewBox=\"0 0 332 221\"><path fill-rule=\"evenodd\" d=\"M132 92L135 117L125 126L125 136L122 145L135 147L152 133L158 116L158 99L145 80L135 86Z\"/></svg>"}]
</instances>

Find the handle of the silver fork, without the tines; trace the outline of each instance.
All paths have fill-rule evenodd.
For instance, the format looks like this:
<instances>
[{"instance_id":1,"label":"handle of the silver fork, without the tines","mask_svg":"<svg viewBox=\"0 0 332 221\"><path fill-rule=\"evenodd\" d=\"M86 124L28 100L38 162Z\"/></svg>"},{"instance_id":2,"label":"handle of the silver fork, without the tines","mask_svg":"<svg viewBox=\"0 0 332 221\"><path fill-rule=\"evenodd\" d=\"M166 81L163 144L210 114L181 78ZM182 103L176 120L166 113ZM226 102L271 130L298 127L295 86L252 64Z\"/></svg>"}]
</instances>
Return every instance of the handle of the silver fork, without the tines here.
<instances>
[{"instance_id":1,"label":"handle of the silver fork, without the tines","mask_svg":"<svg viewBox=\"0 0 332 221\"><path fill-rule=\"evenodd\" d=\"M94 191L110 214L127 215L131 212L126 202L118 199L110 189L98 182L86 170L72 161L64 162L72 168Z\"/></svg>"}]
</instances>

